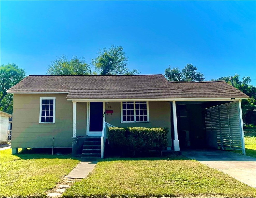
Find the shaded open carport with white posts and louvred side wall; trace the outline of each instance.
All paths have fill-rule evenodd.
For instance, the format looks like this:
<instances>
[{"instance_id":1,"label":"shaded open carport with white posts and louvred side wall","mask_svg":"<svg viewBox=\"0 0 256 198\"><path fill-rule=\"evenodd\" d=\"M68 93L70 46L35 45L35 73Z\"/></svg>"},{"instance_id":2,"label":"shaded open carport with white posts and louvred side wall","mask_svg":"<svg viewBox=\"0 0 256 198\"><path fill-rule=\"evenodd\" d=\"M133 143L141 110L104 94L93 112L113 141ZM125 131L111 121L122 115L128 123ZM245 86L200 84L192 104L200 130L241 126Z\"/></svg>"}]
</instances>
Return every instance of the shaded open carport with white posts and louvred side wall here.
<instances>
[{"instance_id":1,"label":"shaded open carport with white posts and louvred side wall","mask_svg":"<svg viewBox=\"0 0 256 198\"><path fill-rule=\"evenodd\" d=\"M180 150L230 148L245 154L241 99L175 101L171 107L174 150L177 135Z\"/></svg>"}]
</instances>

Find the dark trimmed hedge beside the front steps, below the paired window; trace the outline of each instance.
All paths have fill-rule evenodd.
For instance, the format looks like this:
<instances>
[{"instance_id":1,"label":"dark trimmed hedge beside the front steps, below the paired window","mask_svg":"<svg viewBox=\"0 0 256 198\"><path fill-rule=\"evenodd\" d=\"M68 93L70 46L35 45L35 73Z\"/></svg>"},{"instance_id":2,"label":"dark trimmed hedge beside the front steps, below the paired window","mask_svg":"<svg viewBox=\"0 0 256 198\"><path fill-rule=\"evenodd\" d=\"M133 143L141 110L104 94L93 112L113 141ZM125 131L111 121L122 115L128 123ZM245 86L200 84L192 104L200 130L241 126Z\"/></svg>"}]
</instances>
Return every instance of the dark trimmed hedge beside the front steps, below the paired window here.
<instances>
[{"instance_id":1,"label":"dark trimmed hedge beside the front steps, below the paired window","mask_svg":"<svg viewBox=\"0 0 256 198\"><path fill-rule=\"evenodd\" d=\"M167 127L109 127L107 139L112 154L144 156L150 150L166 148L167 134Z\"/></svg>"}]
</instances>

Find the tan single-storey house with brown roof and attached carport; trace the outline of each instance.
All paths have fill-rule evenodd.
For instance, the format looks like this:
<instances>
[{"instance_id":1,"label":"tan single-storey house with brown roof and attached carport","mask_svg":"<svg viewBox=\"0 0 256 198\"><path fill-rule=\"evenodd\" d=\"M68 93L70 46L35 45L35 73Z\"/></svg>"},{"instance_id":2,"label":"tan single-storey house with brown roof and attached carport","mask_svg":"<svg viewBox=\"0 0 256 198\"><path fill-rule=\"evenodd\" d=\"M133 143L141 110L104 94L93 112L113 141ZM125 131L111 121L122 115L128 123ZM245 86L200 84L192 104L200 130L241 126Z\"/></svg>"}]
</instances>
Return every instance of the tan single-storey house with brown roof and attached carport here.
<instances>
[{"instance_id":1,"label":"tan single-storey house with brown roof and attached carport","mask_svg":"<svg viewBox=\"0 0 256 198\"><path fill-rule=\"evenodd\" d=\"M230 147L245 154L241 100L248 96L225 81L30 75L8 93L14 94L13 154L54 144L72 147L74 155L83 150L84 157L103 157L109 126L168 127L167 149L175 151Z\"/></svg>"}]
</instances>

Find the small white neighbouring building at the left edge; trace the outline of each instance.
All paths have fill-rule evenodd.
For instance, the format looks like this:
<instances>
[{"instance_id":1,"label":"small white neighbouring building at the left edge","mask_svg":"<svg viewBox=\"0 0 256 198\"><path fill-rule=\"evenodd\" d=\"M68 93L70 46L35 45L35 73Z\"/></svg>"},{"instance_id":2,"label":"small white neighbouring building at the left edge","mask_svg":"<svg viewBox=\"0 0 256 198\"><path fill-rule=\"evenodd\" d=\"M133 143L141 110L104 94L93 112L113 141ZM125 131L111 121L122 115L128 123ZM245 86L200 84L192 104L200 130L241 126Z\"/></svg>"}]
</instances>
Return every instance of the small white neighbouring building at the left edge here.
<instances>
[{"instance_id":1,"label":"small white neighbouring building at the left edge","mask_svg":"<svg viewBox=\"0 0 256 198\"><path fill-rule=\"evenodd\" d=\"M8 141L8 126L11 114L0 111L0 144L7 144Z\"/></svg>"}]
</instances>

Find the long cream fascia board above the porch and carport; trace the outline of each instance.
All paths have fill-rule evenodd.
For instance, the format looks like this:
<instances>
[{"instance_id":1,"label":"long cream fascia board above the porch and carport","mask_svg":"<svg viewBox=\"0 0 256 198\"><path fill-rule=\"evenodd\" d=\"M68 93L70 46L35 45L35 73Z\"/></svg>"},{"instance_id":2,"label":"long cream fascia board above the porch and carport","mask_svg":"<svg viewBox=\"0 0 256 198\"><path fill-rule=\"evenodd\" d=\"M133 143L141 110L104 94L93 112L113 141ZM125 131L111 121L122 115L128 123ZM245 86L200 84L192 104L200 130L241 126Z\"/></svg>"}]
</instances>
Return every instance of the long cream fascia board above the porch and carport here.
<instances>
[{"instance_id":1,"label":"long cream fascia board above the porch and carport","mask_svg":"<svg viewBox=\"0 0 256 198\"><path fill-rule=\"evenodd\" d=\"M248 98L235 98L235 100L231 100L230 98L144 98L144 99L67 99L68 101L73 102L120 102L120 101L237 101L241 99Z\"/></svg>"}]
</instances>

